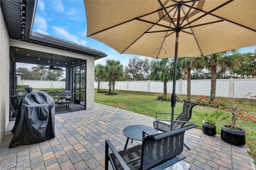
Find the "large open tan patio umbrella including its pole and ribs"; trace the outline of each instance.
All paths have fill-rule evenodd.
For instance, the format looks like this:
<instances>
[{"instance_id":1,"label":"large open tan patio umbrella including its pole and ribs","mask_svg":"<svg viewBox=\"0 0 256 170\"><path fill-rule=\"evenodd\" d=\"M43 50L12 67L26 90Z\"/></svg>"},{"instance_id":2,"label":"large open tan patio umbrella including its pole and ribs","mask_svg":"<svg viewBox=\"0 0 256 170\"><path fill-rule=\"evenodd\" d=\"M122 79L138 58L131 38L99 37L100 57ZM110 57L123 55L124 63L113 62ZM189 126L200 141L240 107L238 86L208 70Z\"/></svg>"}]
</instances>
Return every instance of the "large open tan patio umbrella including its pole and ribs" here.
<instances>
[{"instance_id":1,"label":"large open tan patio umbrella including its pole and ribs","mask_svg":"<svg viewBox=\"0 0 256 170\"><path fill-rule=\"evenodd\" d=\"M84 0L84 4L88 37L119 53L174 57L171 124L177 57L256 45L255 0Z\"/></svg>"}]
</instances>

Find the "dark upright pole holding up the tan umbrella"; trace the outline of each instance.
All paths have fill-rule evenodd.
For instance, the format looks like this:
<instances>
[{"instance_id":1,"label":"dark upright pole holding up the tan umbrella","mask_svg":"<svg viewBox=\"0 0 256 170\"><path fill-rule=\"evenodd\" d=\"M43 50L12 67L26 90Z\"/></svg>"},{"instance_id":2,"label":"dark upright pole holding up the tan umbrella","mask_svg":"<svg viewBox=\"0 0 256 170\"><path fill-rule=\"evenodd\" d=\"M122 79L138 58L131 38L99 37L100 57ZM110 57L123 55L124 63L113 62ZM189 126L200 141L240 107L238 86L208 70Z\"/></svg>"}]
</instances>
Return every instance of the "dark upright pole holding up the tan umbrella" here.
<instances>
[{"instance_id":1,"label":"dark upright pole holding up the tan umbrella","mask_svg":"<svg viewBox=\"0 0 256 170\"><path fill-rule=\"evenodd\" d=\"M174 107L176 103L176 74L177 74L177 58L178 58L178 42L179 42L179 32L180 32L180 5L178 5L178 17L177 25L175 28L176 39L175 39L175 55L174 55L174 75L173 75L173 87L172 87L172 96L171 96L171 107L172 107L172 116L171 116L171 131L173 130L174 125Z\"/></svg>"}]
</instances>

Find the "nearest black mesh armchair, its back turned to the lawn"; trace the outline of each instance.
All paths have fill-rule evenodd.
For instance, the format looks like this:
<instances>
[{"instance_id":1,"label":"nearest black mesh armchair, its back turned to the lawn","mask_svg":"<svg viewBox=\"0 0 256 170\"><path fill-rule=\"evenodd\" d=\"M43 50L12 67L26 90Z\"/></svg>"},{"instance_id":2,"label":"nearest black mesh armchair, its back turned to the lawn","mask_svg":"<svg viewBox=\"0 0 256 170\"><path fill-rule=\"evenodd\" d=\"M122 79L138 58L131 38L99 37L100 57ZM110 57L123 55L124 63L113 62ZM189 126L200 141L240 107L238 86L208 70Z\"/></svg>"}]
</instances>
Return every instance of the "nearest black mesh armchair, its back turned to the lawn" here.
<instances>
[{"instance_id":1,"label":"nearest black mesh armchair, its back turned to the lawn","mask_svg":"<svg viewBox=\"0 0 256 170\"><path fill-rule=\"evenodd\" d=\"M186 158L183 150L184 133L197 125L187 125L171 132L146 136L142 144L117 152L106 140L105 170L108 161L114 170L162 170ZM112 151L108 154L109 149Z\"/></svg>"}]
</instances>

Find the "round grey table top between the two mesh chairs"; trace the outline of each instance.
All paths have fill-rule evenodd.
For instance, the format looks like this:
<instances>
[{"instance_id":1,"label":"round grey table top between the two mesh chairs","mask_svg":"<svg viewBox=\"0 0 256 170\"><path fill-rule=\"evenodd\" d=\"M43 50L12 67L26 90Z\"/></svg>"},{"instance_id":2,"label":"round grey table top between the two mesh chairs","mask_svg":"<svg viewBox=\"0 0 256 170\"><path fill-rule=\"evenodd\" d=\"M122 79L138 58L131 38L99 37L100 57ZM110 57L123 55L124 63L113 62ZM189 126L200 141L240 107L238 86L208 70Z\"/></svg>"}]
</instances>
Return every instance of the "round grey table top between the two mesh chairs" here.
<instances>
[{"instance_id":1,"label":"round grey table top between the two mesh chairs","mask_svg":"<svg viewBox=\"0 0 256 170\"><path fill-rule=\"evenodd\" d=\"M142 140L142 131L147 134L157 134L158 131L152 127L148 127L145 125L131 125L124 128L123 133L126 137L134 139L134 140ZM148 136L145 134L145 136Z\"/></svg>"}]
</instances>

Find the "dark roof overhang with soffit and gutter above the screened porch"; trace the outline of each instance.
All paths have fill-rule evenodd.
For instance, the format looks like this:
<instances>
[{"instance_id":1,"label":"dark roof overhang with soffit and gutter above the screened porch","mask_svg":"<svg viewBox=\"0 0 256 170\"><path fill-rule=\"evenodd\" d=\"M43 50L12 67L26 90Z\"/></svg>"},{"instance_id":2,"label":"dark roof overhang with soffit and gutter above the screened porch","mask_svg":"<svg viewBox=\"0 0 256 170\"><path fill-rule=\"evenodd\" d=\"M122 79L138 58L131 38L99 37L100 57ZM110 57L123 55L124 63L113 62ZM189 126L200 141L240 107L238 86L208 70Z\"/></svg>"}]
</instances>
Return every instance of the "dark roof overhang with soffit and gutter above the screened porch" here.
<instances>
[{"instance_id":1,"label":"dark roof overhang with soffit and gutter above the screened porch","mask_svg":"<svg viewBox=\"0 0 256 170\"><path fill-rule=\"evenodd\" d=\"M95 60L107 56L106 53L90 47L32 32L36 4L37 0L0 0L9 38L89 55L95 57Z\"/></svg>"}]
</instances>

